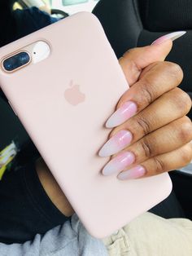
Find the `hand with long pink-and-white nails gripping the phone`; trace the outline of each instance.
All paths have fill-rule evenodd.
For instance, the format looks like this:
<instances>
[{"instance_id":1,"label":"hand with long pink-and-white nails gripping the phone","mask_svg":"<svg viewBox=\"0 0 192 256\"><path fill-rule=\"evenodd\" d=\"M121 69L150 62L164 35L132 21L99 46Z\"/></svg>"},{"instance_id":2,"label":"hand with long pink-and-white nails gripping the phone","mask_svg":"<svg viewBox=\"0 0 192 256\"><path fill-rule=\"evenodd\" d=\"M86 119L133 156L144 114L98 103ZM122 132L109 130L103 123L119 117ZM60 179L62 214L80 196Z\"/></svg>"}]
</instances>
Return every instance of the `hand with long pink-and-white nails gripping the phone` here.
<instances>
[{"instance_id":1,"label":"hand with long pink-and-white nails gripping the phone","mask_svg":"<svg viewBox=\"0 0 192 256\"><path fill-rule=\"evenodd\" d=\"M112 156L103 174L137 179L186 166L192 159L191 99L177 88L183 73L164 62L172 41L128 51L120 65L130 89L120 99L107 127L116 127L100 150Z\"/></svg>"}]
</instances>

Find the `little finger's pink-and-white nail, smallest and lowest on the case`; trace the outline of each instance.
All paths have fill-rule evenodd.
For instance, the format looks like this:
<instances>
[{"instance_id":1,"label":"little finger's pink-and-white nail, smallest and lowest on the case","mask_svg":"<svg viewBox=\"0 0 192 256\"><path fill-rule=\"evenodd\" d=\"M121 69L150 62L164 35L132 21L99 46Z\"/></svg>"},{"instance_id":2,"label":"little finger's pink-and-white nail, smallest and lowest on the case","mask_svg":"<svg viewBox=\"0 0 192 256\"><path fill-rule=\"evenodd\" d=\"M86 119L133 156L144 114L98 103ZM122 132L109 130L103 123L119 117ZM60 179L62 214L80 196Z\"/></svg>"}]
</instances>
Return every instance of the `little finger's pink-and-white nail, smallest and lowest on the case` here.
<instances>
[{"instance_id":1,"label":"little finger's pink-and-white nail, smallest and lowest on the case","mask_svg":"<svg viewBox=\"0 0 192 256\"><path fill-rule=\"evenodd\" d=\"M143 175L146 174L146 170L142 166L135 166L130 170L122 171L117 178L124 180L124 179L137 179L141 178Z\"/></svg>"}]
</instances>

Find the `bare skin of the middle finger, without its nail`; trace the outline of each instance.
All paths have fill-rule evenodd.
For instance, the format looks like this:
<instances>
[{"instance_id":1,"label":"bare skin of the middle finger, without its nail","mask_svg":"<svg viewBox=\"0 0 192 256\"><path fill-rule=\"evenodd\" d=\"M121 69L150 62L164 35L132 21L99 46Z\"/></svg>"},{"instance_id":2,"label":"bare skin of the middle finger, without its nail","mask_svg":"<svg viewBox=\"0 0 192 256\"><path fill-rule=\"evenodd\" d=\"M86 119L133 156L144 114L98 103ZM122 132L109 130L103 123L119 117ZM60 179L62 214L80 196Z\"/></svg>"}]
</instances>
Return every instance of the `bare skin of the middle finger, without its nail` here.
<instances>
[{"instance_id":1,"label":"bare skin of the middle finger, without its nail","mask_svg":"<svg viewBox=\"0 0 192 256\"><path fill-rule=\"evenodd\" d=\"M190 108L190 96L180 88L175 88L160 96L140 113L125 121L123 125L116 127L110 137L120 130L129 130L133 137L131 143L135 143L152 131L184 117L189 113Z\"/></svg>"}]
</instances>

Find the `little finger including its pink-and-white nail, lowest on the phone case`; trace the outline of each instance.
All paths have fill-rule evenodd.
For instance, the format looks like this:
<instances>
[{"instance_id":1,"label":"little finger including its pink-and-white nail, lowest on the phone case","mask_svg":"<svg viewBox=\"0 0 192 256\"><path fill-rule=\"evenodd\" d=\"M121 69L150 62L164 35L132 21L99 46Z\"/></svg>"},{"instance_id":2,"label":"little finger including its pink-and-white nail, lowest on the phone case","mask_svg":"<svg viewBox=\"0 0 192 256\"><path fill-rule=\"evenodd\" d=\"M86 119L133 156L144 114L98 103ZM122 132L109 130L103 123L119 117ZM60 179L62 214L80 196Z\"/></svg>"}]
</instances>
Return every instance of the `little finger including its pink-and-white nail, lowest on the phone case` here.
<instances>
[{"instance_id":1,"label":"little finger including its pink-and-white nail, lowest on the phone case","mask_svg":"<svg viewBox=\"0 0 192 256\"><path fill-rule=\"evenodd\" d=\"M137 179L162 174L169 170L177 170L187 166L192 160L192 143L187 143L181 148L162 155L152 157L142 162L139 166L134 166L130 170L122 171L118 179Z\"/></svg>"}]
</instances>

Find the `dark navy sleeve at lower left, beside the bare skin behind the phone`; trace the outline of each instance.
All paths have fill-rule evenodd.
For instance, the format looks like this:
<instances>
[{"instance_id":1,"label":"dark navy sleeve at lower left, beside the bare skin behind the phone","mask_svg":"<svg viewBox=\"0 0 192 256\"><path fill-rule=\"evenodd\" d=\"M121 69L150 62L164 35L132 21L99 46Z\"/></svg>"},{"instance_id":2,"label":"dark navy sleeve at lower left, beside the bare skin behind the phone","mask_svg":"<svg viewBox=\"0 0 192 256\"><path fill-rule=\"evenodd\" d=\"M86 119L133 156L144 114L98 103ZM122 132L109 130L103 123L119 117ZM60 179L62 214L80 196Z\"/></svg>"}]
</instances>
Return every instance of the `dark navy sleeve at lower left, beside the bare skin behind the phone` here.
<instances>
[{"instance_id":1,"label":"dark navy sleeve at lower left, beside the bare skin behind the phone","mask_svg":"<svg viewBox=\"0 0 192 256\"><path fill-rule=\"evenodd\" d=\"M46 195L35 162L0 181L0 242L24 243L63 224L65 217Z\"/></svg>"}]
</instances>

